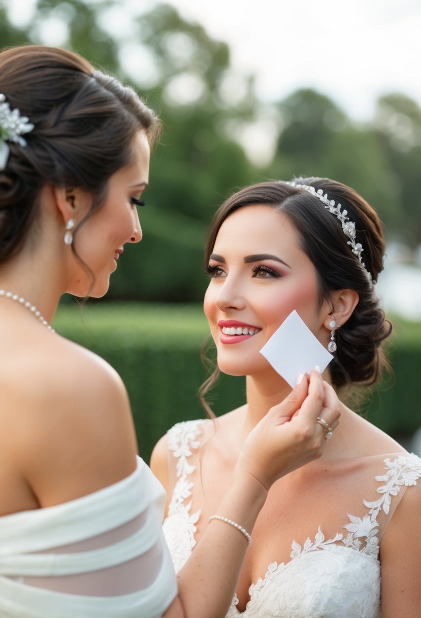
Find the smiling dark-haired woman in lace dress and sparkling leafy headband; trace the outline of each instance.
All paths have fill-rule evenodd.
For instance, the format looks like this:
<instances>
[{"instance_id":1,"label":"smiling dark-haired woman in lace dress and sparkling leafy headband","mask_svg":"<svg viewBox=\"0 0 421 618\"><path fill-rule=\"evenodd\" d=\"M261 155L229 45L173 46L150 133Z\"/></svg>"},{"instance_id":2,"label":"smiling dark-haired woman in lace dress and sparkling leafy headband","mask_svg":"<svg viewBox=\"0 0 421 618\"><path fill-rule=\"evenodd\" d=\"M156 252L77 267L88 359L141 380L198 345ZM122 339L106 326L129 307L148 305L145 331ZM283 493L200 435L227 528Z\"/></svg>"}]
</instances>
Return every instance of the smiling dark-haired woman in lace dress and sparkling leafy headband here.
<instances>
[{"instance_id":1,"label":"smiling dark-haired woman in lace dress and sparkling leafy headband","mask_svg":"<svg viewBox=\"0 0 421 618\"><path fill-rule=\"evenodd\" d=\"M323 378L337 392L380 378L383 251L375 211L329 179L252 185L215 214L204 310L219 370L246 376L247 402L175 425L154 449L176 570L200 548L249 431L291 390L259 353L291 311L333 354ZM340 408L322 457L270 489L227 618L419 616L421 460Z\"/></svg>"}]
</instances>

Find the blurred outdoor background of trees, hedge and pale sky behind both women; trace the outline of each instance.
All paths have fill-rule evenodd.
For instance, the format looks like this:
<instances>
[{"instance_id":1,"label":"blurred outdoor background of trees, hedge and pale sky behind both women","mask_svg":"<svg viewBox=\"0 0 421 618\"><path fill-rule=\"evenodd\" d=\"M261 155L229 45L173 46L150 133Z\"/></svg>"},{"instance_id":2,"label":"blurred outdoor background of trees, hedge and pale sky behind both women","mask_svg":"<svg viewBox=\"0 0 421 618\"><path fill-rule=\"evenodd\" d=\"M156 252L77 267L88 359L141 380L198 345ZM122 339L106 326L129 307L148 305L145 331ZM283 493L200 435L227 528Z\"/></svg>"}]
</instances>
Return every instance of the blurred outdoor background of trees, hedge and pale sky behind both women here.
<instances>
[{"instance_id":1,"label":"blurred outdoor background of trees, hedge and pale sky behind both women","mask_svg":"<svg viewBox=\"0 0 421 618\"><path fill-rule=\"evenodd\" d=\"M383 221L378 292L393 372L357 406L421 454L421 5L414 0L0 0L0 46L72 49L130 83L161 117L141 210L104 300L64 298L57 331L125 379L140 451L204 415L202 252L217 206L267 179L327 176ZM224 376L216 413L243 403Z\"/></svg>"}]
</instances>

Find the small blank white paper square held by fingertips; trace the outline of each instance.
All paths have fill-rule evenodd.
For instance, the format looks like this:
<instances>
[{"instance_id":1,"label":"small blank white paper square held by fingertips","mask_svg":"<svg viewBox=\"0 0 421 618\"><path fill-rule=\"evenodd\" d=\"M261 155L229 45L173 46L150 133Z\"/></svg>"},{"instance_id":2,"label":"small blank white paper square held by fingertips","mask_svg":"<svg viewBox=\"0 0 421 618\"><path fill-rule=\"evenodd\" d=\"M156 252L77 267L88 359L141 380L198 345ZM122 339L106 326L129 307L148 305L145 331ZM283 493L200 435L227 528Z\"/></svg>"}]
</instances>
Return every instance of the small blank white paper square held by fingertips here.
<instances>
[{"instance_id":1,"label":"small blank white paper square held by fingertips","mask_svg":"<svg viewBox=\"0 0 421 618\"><path fill-rule=\"evenodd\" d=\"M323 372L333 358L295 310L260 352L291 388L296 385L300 373L310 373L316 365Z\"/></svg>"}]
</instances>

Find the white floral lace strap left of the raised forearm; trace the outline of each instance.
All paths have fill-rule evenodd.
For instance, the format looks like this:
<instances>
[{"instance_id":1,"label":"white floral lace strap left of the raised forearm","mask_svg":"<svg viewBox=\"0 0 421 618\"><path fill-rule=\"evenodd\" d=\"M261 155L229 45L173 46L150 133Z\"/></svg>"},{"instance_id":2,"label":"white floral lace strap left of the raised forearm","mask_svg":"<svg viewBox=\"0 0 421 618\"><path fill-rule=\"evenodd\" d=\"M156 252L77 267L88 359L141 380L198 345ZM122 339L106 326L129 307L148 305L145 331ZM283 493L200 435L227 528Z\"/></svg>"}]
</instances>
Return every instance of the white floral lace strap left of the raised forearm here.
<instances>
[{"instance_id":1,"label":"white floral lace strap left of the raised forearm","mask_svg":"<svg viewBox=\"0 0 421 618\"><path fill-rule=\"evenodd\" d=\"M198 449L200 442L198 441L202 431L199 429L199 423L204 421L184 421L177 423L168 431L168 448L177 458L177 478L171 502L169 505L169 516L178 515L180 525L188 535L190 548L193 549L196 545L194 533L196 533L196 523L201 515L199 509L196 513L190 514L191 501L188 504L185 501L190 498L191 490L194 484L188 481L187 476L196 470L196 466L188 462L188 457L191 457L193 450ZM182 524L181 524L182 520Z\"/></svg>"}]
</instances>

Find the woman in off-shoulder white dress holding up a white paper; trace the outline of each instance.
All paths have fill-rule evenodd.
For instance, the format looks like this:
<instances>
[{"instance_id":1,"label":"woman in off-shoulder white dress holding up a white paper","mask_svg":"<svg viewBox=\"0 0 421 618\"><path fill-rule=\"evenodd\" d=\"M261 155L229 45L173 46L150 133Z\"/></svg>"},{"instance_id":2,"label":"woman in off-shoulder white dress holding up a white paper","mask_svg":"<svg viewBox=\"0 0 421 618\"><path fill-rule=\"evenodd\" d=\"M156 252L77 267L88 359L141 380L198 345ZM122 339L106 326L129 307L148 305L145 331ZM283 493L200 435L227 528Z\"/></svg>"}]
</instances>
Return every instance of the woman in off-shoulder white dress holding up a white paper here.
<instances>
[{"instance_id":1,"label":"woman in off-shoulder white dress holding up a white paper","mask_svg":"<svg viewBox=\"0 0 421 618\"><path fill-rule=\"evenodd\" d=\"M104 295L125 243L141 240L158 132L131 88L77 54L0 53L1 616L224 616L267 489L319 457L317 417L337 425L335 392L312 371L252 432L225 520L177 594L164 490L136 459L122 381L50 326L64 292Z\"/></svg>"}]
</instances>

